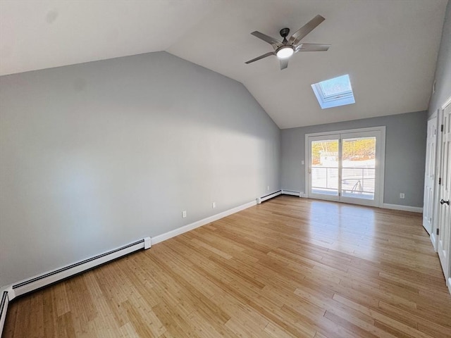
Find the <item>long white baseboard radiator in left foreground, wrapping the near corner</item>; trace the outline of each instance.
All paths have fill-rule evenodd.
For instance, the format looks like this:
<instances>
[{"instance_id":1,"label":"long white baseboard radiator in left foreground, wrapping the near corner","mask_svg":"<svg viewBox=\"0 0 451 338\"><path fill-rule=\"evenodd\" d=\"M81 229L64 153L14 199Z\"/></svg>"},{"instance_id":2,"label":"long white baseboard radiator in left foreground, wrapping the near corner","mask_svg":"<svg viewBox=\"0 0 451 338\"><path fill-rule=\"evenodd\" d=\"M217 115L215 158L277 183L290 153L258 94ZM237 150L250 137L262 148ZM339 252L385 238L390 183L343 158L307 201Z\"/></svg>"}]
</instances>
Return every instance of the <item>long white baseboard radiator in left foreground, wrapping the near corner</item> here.
<instances>
[{"instance_id":1,"label":"long white baseboard radiator in left foreground, wrapping the near corner","mask_svg":"<svg viewBox=\"0 0 451 338\"><path fill-rule=\"evenodd\" d=\"M73 263L63 268L52 270L48 273L37 275L36 277L32 277L28 280L23 280L22 282L18 282L16 284L12 284L9 287L6 287L1 295L0 338L1 332L3 332L8 303L15 299L17 296L21 296L23 294L27 294L28 292L41 289L42 287L47 287L50 284L65 280L66 278L72 277L73 275L78 275L79 273L85 272L86 270L90 270L109 261L113 261L122 256L126 256L129 253L142 249L149 249L151 245L152 244L150 237L145 237L137 242L121 246L120 248L101 253L100 255L94 256L92 258L87 258L84 261Z\"/></svg>"}]
</instances>

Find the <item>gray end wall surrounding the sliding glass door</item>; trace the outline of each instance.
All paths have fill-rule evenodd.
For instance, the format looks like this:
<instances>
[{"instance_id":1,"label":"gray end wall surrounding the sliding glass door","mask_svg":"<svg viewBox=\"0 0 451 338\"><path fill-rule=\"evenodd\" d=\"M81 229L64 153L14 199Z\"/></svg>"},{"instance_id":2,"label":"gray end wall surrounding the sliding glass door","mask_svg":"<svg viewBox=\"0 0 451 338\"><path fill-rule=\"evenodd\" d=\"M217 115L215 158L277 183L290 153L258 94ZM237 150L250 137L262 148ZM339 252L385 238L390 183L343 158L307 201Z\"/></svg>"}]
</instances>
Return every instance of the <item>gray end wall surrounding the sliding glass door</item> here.
<instances>
[{"instance_id":1,"label":"gray end wall surrounding the sliding glass door","mask_svg":"<svg viewBox=\"0 0 451 338\"><path fill-rule=\"evenodd\" d=\"M305 134L385 125L385 184L383 202L423 206L426 158L425 111L365 118L341 123L282 130L282 189L305 192ZM405 199L400 199L404 192Z\"/></svg>"}]
</instances>

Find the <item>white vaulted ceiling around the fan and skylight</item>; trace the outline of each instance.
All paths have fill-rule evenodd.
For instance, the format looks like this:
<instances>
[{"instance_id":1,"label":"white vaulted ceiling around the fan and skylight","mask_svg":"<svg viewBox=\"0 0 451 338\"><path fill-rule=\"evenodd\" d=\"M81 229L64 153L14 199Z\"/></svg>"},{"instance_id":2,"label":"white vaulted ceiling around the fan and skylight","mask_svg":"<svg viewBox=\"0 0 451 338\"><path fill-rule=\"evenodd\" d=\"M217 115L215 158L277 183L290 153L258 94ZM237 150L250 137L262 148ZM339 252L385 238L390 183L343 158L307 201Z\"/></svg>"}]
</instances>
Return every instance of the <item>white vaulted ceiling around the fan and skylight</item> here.
<instances>
[{"instance_id":1,"label":"white vaulted ceiling around the fan and skylight","mask_svg":"<svg viewBox=\"0 0 451 338\"><path fill-rule=\"evenodd\" d=\"M245 84L280 128L428 108L447 0L0 0L0 75L168 51ZM326 21L285 70L250 35ZM310 84L349 74L356 104L321 110Z\"/></svg>"}]
</instances>

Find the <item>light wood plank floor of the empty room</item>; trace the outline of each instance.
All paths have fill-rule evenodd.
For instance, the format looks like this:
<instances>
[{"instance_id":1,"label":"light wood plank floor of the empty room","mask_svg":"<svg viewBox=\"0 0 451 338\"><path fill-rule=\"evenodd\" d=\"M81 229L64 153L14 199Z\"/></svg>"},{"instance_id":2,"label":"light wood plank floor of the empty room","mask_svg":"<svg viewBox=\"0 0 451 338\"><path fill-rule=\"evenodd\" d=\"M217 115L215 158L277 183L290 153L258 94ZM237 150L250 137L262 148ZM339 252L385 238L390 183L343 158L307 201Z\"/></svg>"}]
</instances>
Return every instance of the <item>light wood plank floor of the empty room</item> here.
<instances>
[{"instance_id":1,"label":"light wood plank floor of the empty room","mask_svg":"<svg viewBox=\"0 0 451 338\"><path fill-rule=\"evenodd\" d=\"M421 215L279 196L10 304L4 337L451 337Z\"/></svg>"}]
</instances>

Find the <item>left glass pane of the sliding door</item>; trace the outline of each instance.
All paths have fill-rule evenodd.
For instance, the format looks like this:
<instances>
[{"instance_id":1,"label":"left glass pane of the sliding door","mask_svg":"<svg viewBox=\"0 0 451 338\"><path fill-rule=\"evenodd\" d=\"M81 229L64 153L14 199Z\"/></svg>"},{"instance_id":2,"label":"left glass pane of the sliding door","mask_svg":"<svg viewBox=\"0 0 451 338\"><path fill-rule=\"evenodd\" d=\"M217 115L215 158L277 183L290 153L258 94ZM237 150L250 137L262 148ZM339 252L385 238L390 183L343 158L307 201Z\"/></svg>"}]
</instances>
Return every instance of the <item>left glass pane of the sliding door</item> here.
<instances>
[{"instance_id":1,"label":"left glass pane of the sliding door","mask_svg":"<svg viewBox=\"0 0 451 338\"><path fill-rule=\"evenodd\" d=\"M319 139L310 143L310 194L333 197L338 195L338 139Z\"/></svg>"}]
</instances>

